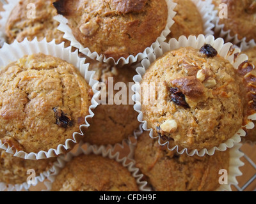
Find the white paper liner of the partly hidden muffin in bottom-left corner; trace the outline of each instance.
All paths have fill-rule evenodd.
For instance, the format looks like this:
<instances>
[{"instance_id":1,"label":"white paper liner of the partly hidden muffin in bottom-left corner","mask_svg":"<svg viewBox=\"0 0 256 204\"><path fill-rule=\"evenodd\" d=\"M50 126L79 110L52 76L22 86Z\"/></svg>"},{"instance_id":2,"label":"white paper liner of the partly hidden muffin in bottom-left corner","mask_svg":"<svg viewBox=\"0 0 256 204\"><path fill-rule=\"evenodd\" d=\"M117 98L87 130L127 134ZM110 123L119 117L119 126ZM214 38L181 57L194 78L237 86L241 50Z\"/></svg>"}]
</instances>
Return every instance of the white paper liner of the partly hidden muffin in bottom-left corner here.
<instances>
[{"instance_id":1,"label":"white paper liner of the partly hidden muffin in bottom-left corner","mask_svg":"<svg viewBox=\"0 0 256 204\"><path fill-rule=\"evenodd\" d=\"M49 170L44 171L35 177L34 184L28 184L28 182L24 182L22 184L6 184L4 182L0 182L0 191L29 191L31 186L36 186L39 183L44 183L45 186L47 186L47 184L52 181L52 177L60 172L61 166L63 166L63 161L60 158L57 158Z\"/></svg>"}]
</instances>

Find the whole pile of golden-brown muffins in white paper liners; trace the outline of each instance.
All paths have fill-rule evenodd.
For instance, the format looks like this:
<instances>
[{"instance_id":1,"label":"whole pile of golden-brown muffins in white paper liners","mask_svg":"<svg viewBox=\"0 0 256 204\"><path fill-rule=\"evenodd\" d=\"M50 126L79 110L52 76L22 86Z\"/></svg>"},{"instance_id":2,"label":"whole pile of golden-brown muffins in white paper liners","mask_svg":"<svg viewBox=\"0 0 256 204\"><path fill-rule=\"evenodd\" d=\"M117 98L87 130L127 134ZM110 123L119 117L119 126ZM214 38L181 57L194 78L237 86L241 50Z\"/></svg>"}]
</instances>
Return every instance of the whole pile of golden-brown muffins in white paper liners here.
<instances>
[{"instance_id":1,"label":"whole pile of golden-brown muffins in white paper liners","mask_svg":"<svg viewBox=\"0 0 256 204\"><path fill-rule=\"evenodd\" d=\"M52 181L49 191L231 190L241 173L241 136L256 138L256 23L243 24L248 32L241 33L233 26L236 10L228 10L232 20L216 20L218 4L226 2L5 5L1 190L28 190L31 169ZM243 2L243 20L255 20L255 1ZM236 8L235 3L228 6ZM28 17L33 11L35 18ZM250 48L244 52L249 61L224 44L237 31L231 42ZM147 89L152 84L159 87ZM122 97L124 103L115 103ZM117 149L123 143L129 146L121 158ZM220 170L227 170L228 184L221 185Z\"/></svg>"}]
</instances>

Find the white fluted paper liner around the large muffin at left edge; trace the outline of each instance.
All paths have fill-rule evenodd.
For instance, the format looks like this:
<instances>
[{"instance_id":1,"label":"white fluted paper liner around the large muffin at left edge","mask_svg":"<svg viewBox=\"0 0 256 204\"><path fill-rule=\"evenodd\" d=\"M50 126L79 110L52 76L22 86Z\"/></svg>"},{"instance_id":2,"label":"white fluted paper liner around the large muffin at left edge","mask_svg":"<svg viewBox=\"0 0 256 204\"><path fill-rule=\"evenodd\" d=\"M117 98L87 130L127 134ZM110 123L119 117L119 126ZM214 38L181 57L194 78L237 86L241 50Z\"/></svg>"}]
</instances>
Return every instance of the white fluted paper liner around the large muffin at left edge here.
<instances>
[{"instance_id":1,"label":"white fluted paper liner around the large muffin at left edge","mask_svg":"<svg viewBox=\"0 0 256 204\"><path fill-rule=\"evenodd\" d=\"M84 119L84 124L80 126L79 133L73 133L72 139L66 140L65 144L60 144L56 149L49 149L48 151L39 151L39 152L24 152L18 151L14 149L14 147L10 147L7 143L3 143L0 140L0 148L6 150L6 152L14 154L14 156L22 157L25 159L45 159L49 157L56 157L59 154L63 154L67 152L67 150L71 149L81 138L83 138L84 134L81 131L81 128L88 128L89 124L87 122L88 118L92 118L94 113L92 110L97 107L98 103L95 100L99 95L99 91L97 91L97 84L99 83L97 80L93 80L94 71L88 71L89 64L84 64L85 58L80 58L76 52L71 51L71 47L64 48L64 43L56 45L55 40L47 43L46 39L42 41L37 41L35 38L33 41L28 41L25 39L21 43L18 43L16 40L8 45L4 43L3 48L0 49L0 68L4 68L10 62L15 62L24 55L38 54L43 53L46 55L52 55L54 57L58 57L67 61L70 64L73 64L81 75L85 78L86 82L92 87L93 97L92 97L92 105L89 107L89 113Z\"/></svg>"}]
</instances>

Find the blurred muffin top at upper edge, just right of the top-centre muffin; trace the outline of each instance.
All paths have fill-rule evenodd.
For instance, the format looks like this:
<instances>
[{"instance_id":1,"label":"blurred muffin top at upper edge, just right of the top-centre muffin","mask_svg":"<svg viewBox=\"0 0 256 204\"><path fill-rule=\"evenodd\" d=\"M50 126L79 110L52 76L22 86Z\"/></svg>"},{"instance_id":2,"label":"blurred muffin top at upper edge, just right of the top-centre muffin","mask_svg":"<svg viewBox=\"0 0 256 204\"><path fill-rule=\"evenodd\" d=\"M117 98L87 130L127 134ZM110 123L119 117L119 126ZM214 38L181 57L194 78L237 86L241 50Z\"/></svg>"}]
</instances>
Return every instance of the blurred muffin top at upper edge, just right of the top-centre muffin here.
<instances>
[{"instance_id":1,"label":"blurred muffin top at upper edge, just right of the top-centre muffin","mask_svg":"<svg viewBox=\"0 0 256 204\"><path fill-rule=\"evenodd\" d=\"M191 0L173 0L173 2L177 3L174 8L177 14L173 18L175 24L172 25L167 40L179 39L182 35L188 38L189 35L204 34L203 20L195 4Z\"/></svg>"}]
</instances>

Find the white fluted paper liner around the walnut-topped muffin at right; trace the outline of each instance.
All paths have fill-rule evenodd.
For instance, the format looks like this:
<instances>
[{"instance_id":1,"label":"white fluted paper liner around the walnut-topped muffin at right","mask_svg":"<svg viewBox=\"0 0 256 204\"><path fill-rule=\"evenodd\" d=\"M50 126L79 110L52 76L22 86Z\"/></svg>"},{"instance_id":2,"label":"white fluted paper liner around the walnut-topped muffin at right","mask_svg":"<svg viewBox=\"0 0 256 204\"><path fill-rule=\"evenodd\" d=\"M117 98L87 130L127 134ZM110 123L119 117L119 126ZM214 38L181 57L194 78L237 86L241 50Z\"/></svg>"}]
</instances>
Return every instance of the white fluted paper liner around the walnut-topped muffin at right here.
<instances>
[{"instance_id":1,"label":"white fluted paper liner around the walnut-topped muffin at right","mask_svg":"<svg viewBox=\"0 0 256 204\"><path fill-rule=\"evenodd\" d=\"M181 36L179 38L179 41L173 38L169 41L169 43L161 43L161 47L155 48L154 52L148 54L147 59L143 59L143 61L141 62L142 67L138 67L136 69L138 75L134 76L133 79L135 84L132 86L132 90L135 92L132 97L135 102L134 110L139 113L138 121L143 124L142 128L145 131L149 131L149 135L151 138L154 138L153 129L148 129L147 121L143 120L143 113L141 112L140 82L143 75L145 75L145 72L149 68L150 64L156 61L156 59L158 57L161 57L165 52L175 50L180 47L193 47L200 49L205 43L210 44L212 47L214 47L218 51L218 54L227 59L236 69L242 62L248 60L248 57L244 54L241 54L237 57L237 53L240 53L241 51L239 50L239 48L230 49L232 48L232 43L224 44L222 38L214 40L214 36L208 36L207 38L205 38L204 35L200 34L197 38L196 36L189 36L189 38L187 39L185 36ZM245 127L241 127L241 129L239 129L239 131L237 131L237 133L232 136L232 138L228 139L225 143L221 143L220 145L218 145L218 147L212 147L211 149L204 148L202 150L188 150L186 148L178 147L178 145L176 145L175 147L170 147L169 142L161 143L160 136L156 136L155 138L158 138L160 145L167 145L169 150L177 150L179 154L183 154L184 152L186 152L186 154L188 154L189 156L193 156L195 154L198 156L204 156L205 154L212 156L216 150L225 151L227 150L227 148L234 147L234 143L241 142L241 136L246 135L243 128L252 129L254 127L254 124L251 121L256 120L256 114L248 116L248 120L248 124L246 124Z\"/></svg>"}]
</instances>

